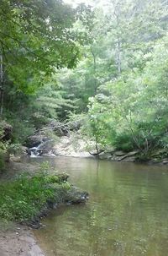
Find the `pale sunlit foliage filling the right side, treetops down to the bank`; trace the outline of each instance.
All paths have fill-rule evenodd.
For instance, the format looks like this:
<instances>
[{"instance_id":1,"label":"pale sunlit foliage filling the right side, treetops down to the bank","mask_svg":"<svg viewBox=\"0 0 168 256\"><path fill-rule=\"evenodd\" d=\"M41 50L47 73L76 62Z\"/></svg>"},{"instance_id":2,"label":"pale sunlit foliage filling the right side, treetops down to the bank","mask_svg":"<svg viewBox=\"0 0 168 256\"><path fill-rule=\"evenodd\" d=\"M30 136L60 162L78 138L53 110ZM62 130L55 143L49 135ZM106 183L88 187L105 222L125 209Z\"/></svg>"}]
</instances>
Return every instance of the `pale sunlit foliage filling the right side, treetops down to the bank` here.
<instances>
[{"instance_id":1,"label":"pale sunlit foliage filling the right side, treetops down to the bank","mask_svg":"<svg viewBox=\"0 0 168 256\"><path fill-rule=\"evenodd\" d=\"M84 130L97 148L139 150L143 158L165 149L165 157L167 3L120 0L107 4L104 13L97 10L89 52L66 83L73 79L81 99L87 94L87 101L82 101L88 107Z\"/></svg>"}]
</instances>

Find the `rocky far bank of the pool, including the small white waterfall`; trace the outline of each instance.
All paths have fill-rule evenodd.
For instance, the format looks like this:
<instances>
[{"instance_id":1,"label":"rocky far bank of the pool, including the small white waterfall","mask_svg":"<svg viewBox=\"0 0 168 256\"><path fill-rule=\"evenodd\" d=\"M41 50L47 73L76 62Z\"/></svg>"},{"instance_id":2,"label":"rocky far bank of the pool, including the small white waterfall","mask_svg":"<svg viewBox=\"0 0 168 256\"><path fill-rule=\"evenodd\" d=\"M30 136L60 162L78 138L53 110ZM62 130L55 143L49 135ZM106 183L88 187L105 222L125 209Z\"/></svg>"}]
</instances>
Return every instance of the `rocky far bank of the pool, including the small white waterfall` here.
<instances>
[{"instance_id":1,"label":"rocky far bank of the pool, including the small white waterfall","mask_svg":"<svg viewBox=\"0 0 168 256\"><path fill-rule=\"evenodd\" d=\"M56 140L47 138L45 135L36 135L30 138L32 156L67 156L67 157L94 157L108 161L146 162L150 164L168 164L168 155L165 149L144 152L134 150L123 152L107 147L95 150L95 143L81 139L80 134L70 133Z\"/></svg>"}]
</instances>

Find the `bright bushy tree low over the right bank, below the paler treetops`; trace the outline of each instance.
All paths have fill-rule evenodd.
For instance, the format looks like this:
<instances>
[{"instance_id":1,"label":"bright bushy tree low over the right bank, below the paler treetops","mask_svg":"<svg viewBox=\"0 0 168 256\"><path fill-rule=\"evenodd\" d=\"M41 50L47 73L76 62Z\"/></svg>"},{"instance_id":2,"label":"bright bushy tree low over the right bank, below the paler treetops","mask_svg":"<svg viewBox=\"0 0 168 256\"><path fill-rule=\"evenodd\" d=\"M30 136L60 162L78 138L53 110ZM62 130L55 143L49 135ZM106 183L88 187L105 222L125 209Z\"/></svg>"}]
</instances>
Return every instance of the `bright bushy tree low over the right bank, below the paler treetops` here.
<instances>
[{"instance_id":1,"label":"bright bushy tree low over the right bank, below the paler treetops","mask_svg":"<svg viewBox=\"0 0 168 256\"><path fill-rule=\"evenodd\" d=\"M164 52L164 57L162 56ZM138 149L144 155L167 145L167 36L159 40L142 72L123 74L101 87L104 94L92 99L89 108L105 144L119 150ZM110 128L115 131L108 136ZM102 130L101 130L102 128ZM102 132L101 132L102 131Z\"/></svg>"}]
</instances>

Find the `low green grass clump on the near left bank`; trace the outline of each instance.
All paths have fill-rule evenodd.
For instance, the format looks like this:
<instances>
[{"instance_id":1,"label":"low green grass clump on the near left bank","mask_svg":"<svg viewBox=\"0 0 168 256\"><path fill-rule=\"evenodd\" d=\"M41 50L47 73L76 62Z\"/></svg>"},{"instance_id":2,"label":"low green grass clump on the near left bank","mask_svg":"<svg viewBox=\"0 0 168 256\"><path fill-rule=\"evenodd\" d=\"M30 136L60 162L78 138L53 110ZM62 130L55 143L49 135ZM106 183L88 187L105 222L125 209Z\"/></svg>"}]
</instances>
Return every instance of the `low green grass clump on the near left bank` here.
<instances>
[{"instance_id":1,"label":"low green grass clump on the near left bank","mask_svg":"<svg viewBox=\"0 0 168 256\"><path fill-rule=\"evenodd\" d=\"M30 221L48 205L60 202L70 188L68 182L46 173L22 174L13 181L0 183L0 218Z\"/></svg>"}]
</instances>

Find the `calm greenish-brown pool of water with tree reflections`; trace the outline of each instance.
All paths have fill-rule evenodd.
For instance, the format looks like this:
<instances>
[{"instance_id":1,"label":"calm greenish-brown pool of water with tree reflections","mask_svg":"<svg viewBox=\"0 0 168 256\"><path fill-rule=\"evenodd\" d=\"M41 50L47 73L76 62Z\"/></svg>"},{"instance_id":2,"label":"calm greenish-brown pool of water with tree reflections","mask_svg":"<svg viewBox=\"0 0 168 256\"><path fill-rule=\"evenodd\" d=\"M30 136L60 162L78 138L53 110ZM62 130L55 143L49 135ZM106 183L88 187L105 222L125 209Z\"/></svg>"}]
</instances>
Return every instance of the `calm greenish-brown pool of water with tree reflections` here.
<instances>
[{"instance_id":1,"label":"calm greenish-brown pool of water with tree reflections","mask_svg":"<svg viewBox=\"0 0 168 256\"><path fill-rule=\"evenodd\" d=\"M45 227L34 231L47 256L168 255L168 167L64 157L48 161L68 172L90 199L53 210Z\"/></svg>"}]
</instances>

